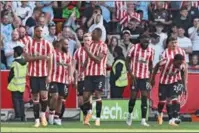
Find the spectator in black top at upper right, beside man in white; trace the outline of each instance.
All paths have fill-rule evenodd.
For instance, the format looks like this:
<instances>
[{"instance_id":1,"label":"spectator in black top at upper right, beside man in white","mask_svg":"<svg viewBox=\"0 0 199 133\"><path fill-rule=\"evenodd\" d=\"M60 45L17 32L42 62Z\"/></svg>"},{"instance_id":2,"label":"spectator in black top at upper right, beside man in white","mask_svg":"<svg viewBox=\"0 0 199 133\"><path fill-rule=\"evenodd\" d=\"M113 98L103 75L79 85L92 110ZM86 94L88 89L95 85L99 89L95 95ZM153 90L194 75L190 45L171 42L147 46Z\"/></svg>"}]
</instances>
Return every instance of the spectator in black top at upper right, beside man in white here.
<instances>
[{"instance_id":1,"label":"spectator in black top at upper right, beside man in white","mask_svg":"<svg viewBox=\"0 0 199 133\"><path fill-rule=\"evenodd\" d=\"M183 27L185 36L188 36L188 28L191 27L191 17L188 16L187 8L183 7L180 9L180 15L174 18L173 24L177 25L177 27Z\"/></svg>"}]
</instances>

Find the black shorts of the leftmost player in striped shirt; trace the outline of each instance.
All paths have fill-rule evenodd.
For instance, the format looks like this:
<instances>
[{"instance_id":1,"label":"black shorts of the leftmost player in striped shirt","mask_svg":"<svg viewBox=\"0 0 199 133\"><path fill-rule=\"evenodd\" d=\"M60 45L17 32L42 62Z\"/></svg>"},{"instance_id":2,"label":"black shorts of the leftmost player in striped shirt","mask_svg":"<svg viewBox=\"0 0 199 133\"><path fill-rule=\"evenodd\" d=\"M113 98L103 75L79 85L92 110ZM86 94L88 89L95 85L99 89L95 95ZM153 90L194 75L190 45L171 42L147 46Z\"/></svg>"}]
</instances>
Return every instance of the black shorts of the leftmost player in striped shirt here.
<instances>
[{"instance_id":1,"label":"black shorts of the leftmost player in striped shirt","mask_svg":"<svg viewBox=\"0 0 199 133\"><path fill-rule=\"evenodd\" d=\"M30 89L32 94L48 91L46 77L30 77Z\"/></svg>"}]
</instances>

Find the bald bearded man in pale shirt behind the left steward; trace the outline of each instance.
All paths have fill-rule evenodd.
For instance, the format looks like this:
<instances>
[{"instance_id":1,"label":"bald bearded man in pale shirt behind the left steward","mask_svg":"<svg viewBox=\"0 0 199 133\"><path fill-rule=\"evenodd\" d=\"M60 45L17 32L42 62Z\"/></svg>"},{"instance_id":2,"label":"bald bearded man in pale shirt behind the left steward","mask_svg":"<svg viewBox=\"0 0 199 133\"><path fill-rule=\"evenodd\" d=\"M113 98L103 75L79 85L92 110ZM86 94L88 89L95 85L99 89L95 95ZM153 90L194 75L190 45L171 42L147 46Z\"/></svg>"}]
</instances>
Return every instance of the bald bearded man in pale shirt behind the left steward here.
<instances>
[{"instance_id":1,"label":"bald bearded man in pale shirt behind the left steward","mask_svg":"<svg viewBox=\"0 0 199 133\"><path fill-rule=\"evenodd\" d=\"M17 30L14 30L12 32L12 40L5 43L4 50L5 50L5 56L8 68L10 68L12 61L14 60L14 51L13 48L16 46L24 47L24 44L22 44L19 39L19 33Z\"/></svg>"}]
</instances>

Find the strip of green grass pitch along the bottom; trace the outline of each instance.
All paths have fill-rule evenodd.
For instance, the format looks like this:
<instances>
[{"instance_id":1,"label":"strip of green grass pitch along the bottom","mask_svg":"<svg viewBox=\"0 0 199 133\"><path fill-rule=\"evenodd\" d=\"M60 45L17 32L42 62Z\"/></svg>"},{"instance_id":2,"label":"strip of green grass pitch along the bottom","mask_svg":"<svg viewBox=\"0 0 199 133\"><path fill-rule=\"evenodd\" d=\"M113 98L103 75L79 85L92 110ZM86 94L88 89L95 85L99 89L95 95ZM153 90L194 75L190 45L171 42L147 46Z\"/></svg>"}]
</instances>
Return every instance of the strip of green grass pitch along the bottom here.
<instances>
[{"instance_id":1,"label":"strip of green grass pitch along the bottom","mask_svg":"<svg viewBox=\"0 0 199 133\"><path fill-rule=\"evenodd\" d=\"M143 127L140 122L134 122L131 127L125 122L101 122L100 127L82 125L81 122L64 122L62 126L49 125L47 127L34 128L32 122L1 123L1 132L199 132L199 123L183 122L179 127L171 127L168 122L162 126L156 122L149 122L150 127Z\"/></svg>"}]
</instances>

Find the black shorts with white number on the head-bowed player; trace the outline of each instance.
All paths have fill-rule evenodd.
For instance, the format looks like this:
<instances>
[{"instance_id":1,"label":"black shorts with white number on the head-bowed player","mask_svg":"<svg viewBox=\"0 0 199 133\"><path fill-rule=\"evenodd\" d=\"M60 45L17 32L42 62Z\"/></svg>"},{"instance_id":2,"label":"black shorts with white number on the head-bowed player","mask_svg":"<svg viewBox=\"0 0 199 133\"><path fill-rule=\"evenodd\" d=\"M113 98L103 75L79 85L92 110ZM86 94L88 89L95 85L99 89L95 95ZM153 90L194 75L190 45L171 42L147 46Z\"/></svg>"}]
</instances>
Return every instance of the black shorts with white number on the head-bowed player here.
<instances>
[{"instance_id":1,"label":"black shorts with white number on the head-bowed player","mask_svg":"<svg viewBox=\"0 0 199 133\"><path fill-rule=\"evenodd\" d=\"M159 101L178 98L178 96L182 93L183 87L183 84L178 82L173 84L160 84L158 94Z\"/></svg>"}]
</instances>

